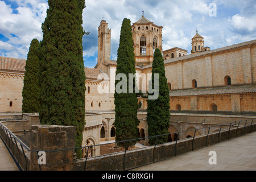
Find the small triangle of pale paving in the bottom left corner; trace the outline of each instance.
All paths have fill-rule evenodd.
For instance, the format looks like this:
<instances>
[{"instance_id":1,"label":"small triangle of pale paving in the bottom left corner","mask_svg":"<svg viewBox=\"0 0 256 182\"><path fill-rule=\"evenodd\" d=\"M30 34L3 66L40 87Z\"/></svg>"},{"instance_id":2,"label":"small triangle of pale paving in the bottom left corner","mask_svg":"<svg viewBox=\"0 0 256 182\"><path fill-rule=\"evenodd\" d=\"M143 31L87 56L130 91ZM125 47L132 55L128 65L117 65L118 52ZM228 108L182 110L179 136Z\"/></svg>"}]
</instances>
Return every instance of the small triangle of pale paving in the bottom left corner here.
<instances>
[{"instance_id":1,"label":"small triangle of pale paving in the bottom left corner","mask_svg":"<svg viewBox=\"0 0 256 182\"><path fill-rule=\"evenodd\" d=\"M0 138L0 171L19 171L5 144Z\"/></svg>"}]
</instances>

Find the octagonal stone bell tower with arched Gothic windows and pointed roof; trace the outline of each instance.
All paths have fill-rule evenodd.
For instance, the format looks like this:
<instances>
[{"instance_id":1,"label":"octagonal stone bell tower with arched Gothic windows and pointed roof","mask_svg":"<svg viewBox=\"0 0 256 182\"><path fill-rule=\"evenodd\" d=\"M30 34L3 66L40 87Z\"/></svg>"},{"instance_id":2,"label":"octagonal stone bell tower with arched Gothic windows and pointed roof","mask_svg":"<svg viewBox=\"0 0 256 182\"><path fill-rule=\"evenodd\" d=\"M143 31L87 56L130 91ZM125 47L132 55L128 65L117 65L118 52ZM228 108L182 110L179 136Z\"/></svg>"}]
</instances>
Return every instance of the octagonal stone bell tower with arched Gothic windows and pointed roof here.
<instances>
[{"instance_id":1,"label":"octagonal stone bell tower with arched Gothic windows and pointed roof","mask_svg":"<svg viewBox=\"0 0 256 182\"><path fill-rule=\"evenodd\" d=\"M162 26L157 26L144 16L131 26L133 32L133 46L135 65L143 67L153 63L156 48L163 51Z\"/></svg>"}]
</instances>

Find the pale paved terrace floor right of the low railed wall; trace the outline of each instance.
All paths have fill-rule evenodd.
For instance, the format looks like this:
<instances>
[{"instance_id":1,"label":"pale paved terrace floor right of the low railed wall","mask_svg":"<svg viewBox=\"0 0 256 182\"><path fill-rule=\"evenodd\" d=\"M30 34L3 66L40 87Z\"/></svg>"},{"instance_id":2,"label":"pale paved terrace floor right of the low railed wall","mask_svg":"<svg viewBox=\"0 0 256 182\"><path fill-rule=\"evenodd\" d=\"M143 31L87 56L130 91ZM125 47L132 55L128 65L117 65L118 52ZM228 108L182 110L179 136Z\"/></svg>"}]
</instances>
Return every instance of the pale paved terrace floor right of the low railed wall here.
<instances>
[{"instance_id":1,"label":"pale paved terrace floor right of the low railed wall","mask_svg":"<svg viewBox=\"0 0 256 182\"><path fill-rule=\"evenodd\" d=\"M216 151L217 164L209 164ZM256 171L256 132L226 140L133 171Z\"/></svg>"}]
</instances>

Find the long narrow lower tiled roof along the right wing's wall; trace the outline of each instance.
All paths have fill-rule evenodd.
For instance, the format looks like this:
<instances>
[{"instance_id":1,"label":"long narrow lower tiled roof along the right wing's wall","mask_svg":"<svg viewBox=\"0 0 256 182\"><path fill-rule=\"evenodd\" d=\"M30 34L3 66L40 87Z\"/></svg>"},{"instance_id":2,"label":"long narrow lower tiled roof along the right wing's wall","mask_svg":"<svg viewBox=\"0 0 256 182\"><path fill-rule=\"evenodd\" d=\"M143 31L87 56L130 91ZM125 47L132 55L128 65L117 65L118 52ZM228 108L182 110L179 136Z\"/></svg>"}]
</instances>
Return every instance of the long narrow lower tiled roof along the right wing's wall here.
<instances>
[{"instance_id":1,"label":"long narrow lower tiled roof along the right wing's wall","mask_svg":"<svg viewBox=\"0 0 256 182\"><path fill-rule=\"evenodd\" d=\"M224 86L216 88L197 88L186 90L171 90L170 97L178 96L204 96L204 95L218 95L218 94L235 94L235 93L256 93L256 85L245 86Z\"/></svg>"}]
</instances>

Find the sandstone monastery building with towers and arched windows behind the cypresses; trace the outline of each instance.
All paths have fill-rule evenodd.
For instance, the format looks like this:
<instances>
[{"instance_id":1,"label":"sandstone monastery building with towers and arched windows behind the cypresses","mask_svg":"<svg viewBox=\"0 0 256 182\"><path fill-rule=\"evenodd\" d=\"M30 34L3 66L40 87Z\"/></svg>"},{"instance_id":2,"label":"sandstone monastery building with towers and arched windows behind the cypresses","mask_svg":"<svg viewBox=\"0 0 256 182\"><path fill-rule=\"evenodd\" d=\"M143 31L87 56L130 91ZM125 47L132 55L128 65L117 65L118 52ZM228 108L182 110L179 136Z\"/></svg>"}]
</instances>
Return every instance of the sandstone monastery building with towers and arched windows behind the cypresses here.
<instances>
[{"instance_id":1,"label":"sandstone monastery building with towers and arched windows behind the cypresses","mask_svg":"<svg viewBox=\"0 0 256 182\"><path fill-rule=\"evenodd\" d=\"M162 28L144 15L131 25L139 75L151 73L156 48L163 52L171 113L256 114L256 40L210 50L196 31L191 54L187 55L182 48L163 50ZM113 88L117 62L110 59L110 50L111 29L102 20L98 27L98 63L85 68L84 145L114 138L114 94L98 92L99 87ZM0 114L22 111L25 64L23 59L0 57ZM137 78L138 86L145 91L147 87L142 88L140 80ZM146 110L146 98L139 100L140 110ZM141 121L138 128L147 135L146 125ZM91 155L98 152L92 149Z\"/></svg>"}]
</instances>

